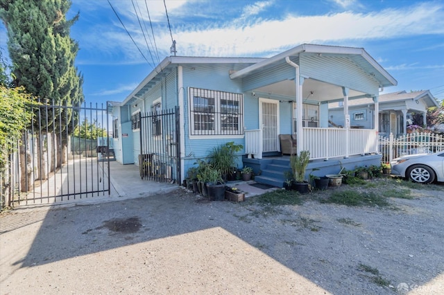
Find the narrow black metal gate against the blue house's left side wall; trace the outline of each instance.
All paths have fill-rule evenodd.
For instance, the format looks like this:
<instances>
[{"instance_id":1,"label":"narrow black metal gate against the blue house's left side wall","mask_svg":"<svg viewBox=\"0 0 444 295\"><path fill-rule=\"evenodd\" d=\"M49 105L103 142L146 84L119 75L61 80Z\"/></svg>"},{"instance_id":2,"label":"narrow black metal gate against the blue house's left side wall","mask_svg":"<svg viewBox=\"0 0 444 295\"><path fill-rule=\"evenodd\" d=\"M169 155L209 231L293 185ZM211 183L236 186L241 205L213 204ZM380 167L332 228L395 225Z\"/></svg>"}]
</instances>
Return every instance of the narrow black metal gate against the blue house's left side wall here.
<instances>
[{"instance_id":1,"label":"narrow black metal gate against the blue house's left side wall","mask_svg":"<svg viewBox=\"0 0 444 295\"><path fill-rule=\"evenodd\" d=\"M139 113L142 179L180 181L179 108Z\"/></svg>"}]
</instances>

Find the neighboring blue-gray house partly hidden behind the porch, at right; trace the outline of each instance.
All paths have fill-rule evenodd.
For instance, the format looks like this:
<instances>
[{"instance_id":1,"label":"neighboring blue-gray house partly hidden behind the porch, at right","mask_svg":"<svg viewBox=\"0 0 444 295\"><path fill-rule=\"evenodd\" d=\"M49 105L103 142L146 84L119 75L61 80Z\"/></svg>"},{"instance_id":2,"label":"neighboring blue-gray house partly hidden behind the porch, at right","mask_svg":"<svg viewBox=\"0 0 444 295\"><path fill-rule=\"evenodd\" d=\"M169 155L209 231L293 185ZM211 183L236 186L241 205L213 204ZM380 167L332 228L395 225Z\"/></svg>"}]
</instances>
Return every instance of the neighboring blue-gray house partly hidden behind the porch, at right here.
<instances>
[{"instance_id":1,"label":"neighboring blue-gray house partly hidden behind the porch, at right","mask_svg":"<svg viewBox=\"0 0 444 295\"><path fill-rule=\"evenodd\" d=\"M371 98L359 98L350 100L350 125L354 128L374 128L375 111ZM411 125L411 113L420 113L423 125L426 125L427 109L439 107L438 101L430 91L398 91L379 96L379 135L393 136L405 134L407 126ZM329 104L329 120L331 125L343 126L343 102Z\"/></svg>"}]
</instances>

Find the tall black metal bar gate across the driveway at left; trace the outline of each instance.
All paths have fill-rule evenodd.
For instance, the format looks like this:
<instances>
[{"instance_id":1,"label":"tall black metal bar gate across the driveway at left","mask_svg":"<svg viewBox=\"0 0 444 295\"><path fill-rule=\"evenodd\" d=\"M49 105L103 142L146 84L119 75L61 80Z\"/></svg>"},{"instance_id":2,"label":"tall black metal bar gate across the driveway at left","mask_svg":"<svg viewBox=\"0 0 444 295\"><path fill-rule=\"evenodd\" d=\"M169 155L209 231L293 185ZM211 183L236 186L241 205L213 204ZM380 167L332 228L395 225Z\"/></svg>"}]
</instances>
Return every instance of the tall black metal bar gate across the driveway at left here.
<instances>
[{"instance_id":1,"label":"tall black metal bar gate across the driveway at left","mask_svg":"<svg viewBox=\"0 0 444 295\"><path fill-rule=\"evenodd\" d=\"M6 205L109 195L113 151L103 104L31 109L33 121L17 152L10 155Z\"/></svg>"}]
</instances>

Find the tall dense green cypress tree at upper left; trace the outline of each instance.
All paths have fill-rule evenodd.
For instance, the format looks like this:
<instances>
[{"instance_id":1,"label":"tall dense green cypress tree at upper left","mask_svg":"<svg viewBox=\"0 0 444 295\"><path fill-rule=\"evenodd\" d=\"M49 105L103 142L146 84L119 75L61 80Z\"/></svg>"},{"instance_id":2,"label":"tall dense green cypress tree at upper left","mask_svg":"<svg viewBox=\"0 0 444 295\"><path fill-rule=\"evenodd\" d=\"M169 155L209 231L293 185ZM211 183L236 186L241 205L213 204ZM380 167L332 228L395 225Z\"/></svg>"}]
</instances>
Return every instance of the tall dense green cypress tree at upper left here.
<instances>
[{"instance_id":1,"label":"tall dense green cypress tree at upper left","mask_svg":"<svg viewBox=\"0 0 444 295\"><path fill-rule=\"evenodd\" d=\"M78 44L69 36L78 14L67 20L65 15L70 7L69 0L0 0L14 83L24 86L44 103L78 106L84 100L83 77L74 66ZM71 119L77 117L67 109L60 112L62 118L68 119L68 127ZM52 118L48 119L49 131L67 127L58 126L57 122L51 125ZM46 128L44 122L40 124Z\"/></svg>"}]
</instances>

